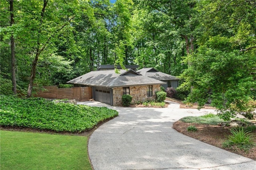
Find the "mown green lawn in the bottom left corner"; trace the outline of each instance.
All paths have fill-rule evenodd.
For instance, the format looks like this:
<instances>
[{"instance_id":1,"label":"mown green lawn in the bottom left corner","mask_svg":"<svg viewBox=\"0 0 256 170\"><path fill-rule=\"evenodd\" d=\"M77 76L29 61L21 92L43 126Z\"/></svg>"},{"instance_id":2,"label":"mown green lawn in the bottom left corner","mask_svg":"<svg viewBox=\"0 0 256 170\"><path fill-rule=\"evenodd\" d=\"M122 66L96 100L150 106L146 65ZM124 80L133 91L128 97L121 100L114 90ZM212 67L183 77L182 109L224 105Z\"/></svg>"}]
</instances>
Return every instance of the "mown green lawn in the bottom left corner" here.
<instances>
[{"instance_id":1,"label":"mown green lawn in the bottom left corner","mask_svg":"<svg viewBox=\"0 0 256 170\"><path fill-rule=\"evenodd\" d=\"M87 137L0 131L1 170L91 170Z\"/></svg>"}]
</instances>

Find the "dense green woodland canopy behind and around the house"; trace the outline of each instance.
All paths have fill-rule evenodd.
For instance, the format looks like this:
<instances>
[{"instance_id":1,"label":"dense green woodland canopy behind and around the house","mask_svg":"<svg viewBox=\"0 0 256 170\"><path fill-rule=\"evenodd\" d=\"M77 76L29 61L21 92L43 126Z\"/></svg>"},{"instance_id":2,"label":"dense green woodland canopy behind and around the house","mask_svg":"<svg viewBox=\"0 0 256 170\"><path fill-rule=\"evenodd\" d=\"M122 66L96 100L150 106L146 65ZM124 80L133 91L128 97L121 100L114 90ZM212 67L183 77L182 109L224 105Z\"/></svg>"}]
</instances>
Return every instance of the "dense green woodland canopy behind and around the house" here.
<instances>
[{"instance_id":1,"label":"dense green woodland canopy behind and around the house","mask_svg":"<svg viewBox=\"0 0 256 170\"><path fill-rule=\"evenodd\" d=\"M29 89L65 84L100 64L138 64L179 76L180 100L209 103L224 119L250 114L255 1L19 0L12 13L9 2L0 6L1 79L9 80L0 82L1 94L11 94L12 68L18 86Z\"/></svg>"}]
</instances>

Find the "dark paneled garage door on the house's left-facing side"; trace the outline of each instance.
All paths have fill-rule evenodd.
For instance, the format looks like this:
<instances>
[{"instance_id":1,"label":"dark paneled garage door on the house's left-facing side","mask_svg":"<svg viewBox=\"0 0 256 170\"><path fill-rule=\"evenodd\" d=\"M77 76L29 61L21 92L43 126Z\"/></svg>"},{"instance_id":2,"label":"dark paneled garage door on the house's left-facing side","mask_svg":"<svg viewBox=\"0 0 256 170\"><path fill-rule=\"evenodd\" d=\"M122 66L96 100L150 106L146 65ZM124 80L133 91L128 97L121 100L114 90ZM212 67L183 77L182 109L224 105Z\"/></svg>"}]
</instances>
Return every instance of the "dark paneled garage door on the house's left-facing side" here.
<instances>
[{"instance_id":1,"label":"dark paneled garage door on the house's left-facing side","mask_svg":"<svg viewBox=\"0 0 256 170\"><path fill-rule=\"evenodd\" d=\"M110 89L96 87L94 100L111 105Z\"/></svg>"}]
</instances>

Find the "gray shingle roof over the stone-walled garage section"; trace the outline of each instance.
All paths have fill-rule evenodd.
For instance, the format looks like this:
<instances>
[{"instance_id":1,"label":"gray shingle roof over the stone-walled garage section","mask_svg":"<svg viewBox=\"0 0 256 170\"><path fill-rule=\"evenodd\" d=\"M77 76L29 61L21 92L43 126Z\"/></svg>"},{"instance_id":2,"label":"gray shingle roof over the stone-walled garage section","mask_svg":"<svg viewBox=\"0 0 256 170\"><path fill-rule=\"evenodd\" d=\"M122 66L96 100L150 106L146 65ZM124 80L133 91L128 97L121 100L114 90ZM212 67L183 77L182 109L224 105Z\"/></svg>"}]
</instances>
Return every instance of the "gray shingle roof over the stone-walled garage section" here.
<instances>
[{"instance_id":1,"label":"gray shingle roof over the stone-walled garage section","mask_svg":"<svg viewBox=\"0 0 256 170\"><path fill-rule=\"evenodd\" d=\"M120 70L120 74L115 73L115 70L91 71L82 76L74 78L67 83L109 88L122 86L166 84L166 82L143 76L131 69L129 69L128 71Z\"/></svg>"}]
</instances>

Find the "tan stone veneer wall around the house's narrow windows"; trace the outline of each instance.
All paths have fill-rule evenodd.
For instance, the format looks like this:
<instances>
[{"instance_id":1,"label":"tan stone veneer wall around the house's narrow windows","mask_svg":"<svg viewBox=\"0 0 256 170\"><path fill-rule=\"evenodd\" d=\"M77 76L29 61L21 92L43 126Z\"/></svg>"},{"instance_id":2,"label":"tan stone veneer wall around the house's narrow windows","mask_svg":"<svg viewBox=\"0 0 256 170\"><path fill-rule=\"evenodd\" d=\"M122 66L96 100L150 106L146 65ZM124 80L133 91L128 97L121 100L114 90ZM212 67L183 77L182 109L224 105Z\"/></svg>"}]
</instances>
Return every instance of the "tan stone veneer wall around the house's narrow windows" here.
<instances>
[{"instance_id":1,"label":"tan stone veneer wall around the house's narrow windows","mask_svg":"<svg viewBox=\"0 0 256 170\"><path fill-rule=\"evenodd\" d=\"M148 97L147 95L148 86L130 86L130 95L132 96L132 103L137 101L144 102L146 100L155 100L156 92L160 91L160 86L160 84L153 85L153 96L151 97ZM122 106L122 95L122 87L113 89L113 106Z\"/></svg>"}]
</instances>

